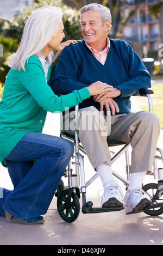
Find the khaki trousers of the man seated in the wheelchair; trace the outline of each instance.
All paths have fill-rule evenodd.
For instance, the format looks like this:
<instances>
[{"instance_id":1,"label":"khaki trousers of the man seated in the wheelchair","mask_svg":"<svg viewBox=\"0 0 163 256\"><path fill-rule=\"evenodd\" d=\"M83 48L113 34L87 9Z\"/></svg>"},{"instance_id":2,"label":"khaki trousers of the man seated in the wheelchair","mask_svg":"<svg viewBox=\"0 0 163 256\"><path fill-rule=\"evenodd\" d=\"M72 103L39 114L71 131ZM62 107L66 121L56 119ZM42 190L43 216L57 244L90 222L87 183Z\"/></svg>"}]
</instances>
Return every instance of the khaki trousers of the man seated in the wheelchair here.
<instances>
[{"instance_id":1,"label":"khaki trousers of the man seated in the wheelchair","mask_svg":"<svg viewBox=\"0 0 163 256\"><path fill-rule=\"evenodd\" d=\"M152 172L156 144L160 134L159 118L153 112L112 115L104 117L95 107L79 109L77 120L74 112L65 114L64 130L78 133L93 168L107 162L111 166L108 143L131 143L131 173Z\"/></svg>"}]
</instances>

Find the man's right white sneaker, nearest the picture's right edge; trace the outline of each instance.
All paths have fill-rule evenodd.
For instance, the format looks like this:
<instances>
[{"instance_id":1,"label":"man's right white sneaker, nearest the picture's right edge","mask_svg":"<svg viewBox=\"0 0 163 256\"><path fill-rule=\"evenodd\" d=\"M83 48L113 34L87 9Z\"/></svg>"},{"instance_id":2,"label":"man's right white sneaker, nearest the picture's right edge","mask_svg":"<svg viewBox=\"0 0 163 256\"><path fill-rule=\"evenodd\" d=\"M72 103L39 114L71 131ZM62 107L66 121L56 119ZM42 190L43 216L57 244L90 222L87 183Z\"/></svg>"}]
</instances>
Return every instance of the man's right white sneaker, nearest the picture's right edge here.
<instances>
[{"instance_id":1,"label":"man's right white sneaker, nearest the picture's right edge","mask_svg":"<svg viewBox=\"0 0 163 256\"><path fill-rule=\"evenodd\" d=\"M152 204L151 200L143 195L141 188L129 188L124 197L126 214L137 214L142 212L148 205Z\"/></svg>"}]
</instances>

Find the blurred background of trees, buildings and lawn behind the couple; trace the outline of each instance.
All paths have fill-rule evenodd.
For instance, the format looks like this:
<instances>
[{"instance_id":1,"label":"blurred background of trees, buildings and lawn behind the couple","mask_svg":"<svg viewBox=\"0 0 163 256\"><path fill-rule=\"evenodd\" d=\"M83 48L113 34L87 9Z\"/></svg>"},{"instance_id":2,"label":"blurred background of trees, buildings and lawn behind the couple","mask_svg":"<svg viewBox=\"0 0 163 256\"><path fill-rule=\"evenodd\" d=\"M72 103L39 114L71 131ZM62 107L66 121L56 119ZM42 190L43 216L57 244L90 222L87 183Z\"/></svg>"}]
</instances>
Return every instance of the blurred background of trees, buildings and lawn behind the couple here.
<instances>
[{"instance_id":1,"label":"blurred background of trees, buildings and lawn behind the couple","mask_svg":"<svg viewBox=\"0 0 163 256\"><path fill-rule=\"evenodd\" d=\"M163 127L163 0L0 0L0 100L10 69L7 57L16 51L29 15L43 5L59 6L63 12L64 41L80 40L79 10L89 3L110 8L109 38L127 41L152 75L154 112ZM139 103L145 109L143 102Z\"/></svg>"}]
</instances>

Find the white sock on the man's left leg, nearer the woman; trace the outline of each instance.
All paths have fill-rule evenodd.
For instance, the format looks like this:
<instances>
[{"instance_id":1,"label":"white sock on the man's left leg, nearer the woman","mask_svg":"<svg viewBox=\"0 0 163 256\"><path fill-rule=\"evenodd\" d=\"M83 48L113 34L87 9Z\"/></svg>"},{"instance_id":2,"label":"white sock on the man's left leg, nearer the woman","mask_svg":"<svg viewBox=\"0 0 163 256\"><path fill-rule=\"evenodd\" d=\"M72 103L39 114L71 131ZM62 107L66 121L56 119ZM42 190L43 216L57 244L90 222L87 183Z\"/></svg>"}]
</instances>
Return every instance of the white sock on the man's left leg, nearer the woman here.
<instances>
[{"instance_id":1,"label":"white sock on the man's left leg, nearer the woman","mask_svg":"<svg viewBox=\"0 0 163 256\"><path fill-rule=\"evenodd\" d=\"M96 171L99 175L99 178L101 178L103 187L105 189L106 187L108 187L108 182L114 180L111 166L108 163L103 162L96 167Z\"/></svg>"}]
</instances>

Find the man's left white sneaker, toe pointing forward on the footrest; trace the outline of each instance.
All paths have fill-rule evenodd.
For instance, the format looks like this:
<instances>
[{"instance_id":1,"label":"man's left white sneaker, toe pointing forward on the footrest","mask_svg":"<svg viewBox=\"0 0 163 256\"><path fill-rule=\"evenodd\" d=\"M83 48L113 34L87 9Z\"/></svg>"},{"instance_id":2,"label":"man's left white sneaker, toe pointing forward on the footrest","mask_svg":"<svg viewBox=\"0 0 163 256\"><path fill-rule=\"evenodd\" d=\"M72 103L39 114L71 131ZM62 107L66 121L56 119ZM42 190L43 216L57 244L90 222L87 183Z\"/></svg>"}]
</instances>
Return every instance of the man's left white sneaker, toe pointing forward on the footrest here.
<instances>
[{"instance_id":1,"label":"man's left white sneaker, toe pointing forward on the footrest","mask_svg":"<svg viewBox=\"0 0 163 256\"><path fill-rule=\"evenodd\" d=\"M109 186L104 190L103 196L102 208L123 207L123 192L117 181L110 181Z\"/></svg>"}]
</instances>

